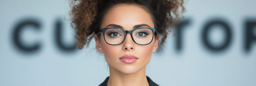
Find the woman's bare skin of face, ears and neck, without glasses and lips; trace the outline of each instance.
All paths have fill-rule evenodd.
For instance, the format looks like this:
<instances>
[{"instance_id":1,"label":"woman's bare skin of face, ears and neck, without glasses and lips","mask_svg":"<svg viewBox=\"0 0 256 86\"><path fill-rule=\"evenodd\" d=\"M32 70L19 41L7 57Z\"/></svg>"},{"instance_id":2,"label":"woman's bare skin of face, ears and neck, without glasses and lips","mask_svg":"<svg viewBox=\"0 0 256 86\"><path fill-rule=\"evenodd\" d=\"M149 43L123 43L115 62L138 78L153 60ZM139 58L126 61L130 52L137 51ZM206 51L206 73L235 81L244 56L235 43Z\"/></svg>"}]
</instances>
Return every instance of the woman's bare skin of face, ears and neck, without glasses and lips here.
<instances>
[{"instance_id":1,"label":"woman's bare skin of face, ears and neck, without glasses and lips","mask_svg":"<svg viewBox=\"0 0 256 86\"><path fill-rule=\"evenodd\" d=\"M100 29L106 28L109 24L120 25L124 30L133 30L134 25L138 24L147 24L155 28L150 14L137 5L122 4L112 7L104 15ZM100 53L104 53L109 65L108 86L149 86L146 78L146 65L150 62L154 50L156 51L159 39L155 39L154 36L150 44L138 45L133 42L131 34L128 33L122 44L113 46L104 41L103 33L100 34L100 38L96 34L94 38L96 48ZM138 60L130 64L123 63L119 58L125 54L132 54Z\"/></svg>"}]
</instances>

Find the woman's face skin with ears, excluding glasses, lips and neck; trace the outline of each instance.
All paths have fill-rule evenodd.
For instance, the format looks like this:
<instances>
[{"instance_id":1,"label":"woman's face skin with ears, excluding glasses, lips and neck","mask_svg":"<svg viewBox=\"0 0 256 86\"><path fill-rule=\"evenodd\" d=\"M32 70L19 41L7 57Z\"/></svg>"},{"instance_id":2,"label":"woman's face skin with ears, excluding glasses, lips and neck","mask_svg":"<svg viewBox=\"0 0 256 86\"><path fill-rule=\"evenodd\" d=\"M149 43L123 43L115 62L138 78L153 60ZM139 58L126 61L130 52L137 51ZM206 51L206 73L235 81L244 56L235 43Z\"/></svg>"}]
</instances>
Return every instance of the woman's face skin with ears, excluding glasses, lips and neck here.
<instances>
[{"instance_id":1,"label":"woman's face skin with ears, excluding glasses, lips and neck","mask_svg":"<svg viewBox=\"0 0 256 86\"><path fill-rule=\"evenodd\" d=\"M112 26L109 26L110 24ZM122 26L124 30L133 30L133 27L139 24L146 24L155 28L150 14L135 5L116 5L111 8L105 14L100 29L107 28L107 26L115 27L113 24ZM141 27L148 27L146 25ZM131 34L128 33L122 44L113 46L105 42L103 33L100 34L100 39L97 38L97 35L94 35L96 48L100 53L104 53L106 62L111 68L126 74L135 73L146 67L152 53L158 47L159 39L155 39L155 36L150 44L138 45L132 40ZM119 59L124 55L135 56L138 59L134 63L125 63Z\"/></svg>"}]
</instances>

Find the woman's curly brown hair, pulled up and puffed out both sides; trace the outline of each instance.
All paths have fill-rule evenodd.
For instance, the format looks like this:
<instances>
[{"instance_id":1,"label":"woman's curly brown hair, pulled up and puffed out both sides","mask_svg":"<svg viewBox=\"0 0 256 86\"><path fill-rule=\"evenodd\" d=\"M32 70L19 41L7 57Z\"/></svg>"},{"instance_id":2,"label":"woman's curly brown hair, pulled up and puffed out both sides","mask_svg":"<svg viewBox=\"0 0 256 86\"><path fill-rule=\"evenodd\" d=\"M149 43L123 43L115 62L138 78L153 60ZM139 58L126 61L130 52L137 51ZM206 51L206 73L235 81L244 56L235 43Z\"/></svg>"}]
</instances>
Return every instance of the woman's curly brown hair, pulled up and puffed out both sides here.
<instances>
[{"instance_id":1,"label":"woman's curly brown hair, pulled up and puffed out both sides","mask_svg":"<svg viewBox=\"0 0 256 86\"><path fill-rule=\"evenodd\" d=\"M100 30L104 14L114 5L139 5L150 13L158 35L162 36L161 45L185 12L183 0L70 0L69 3L71 27L75 29L79 49L88 47L93 34Z\"/></svg>"}]
</instances>

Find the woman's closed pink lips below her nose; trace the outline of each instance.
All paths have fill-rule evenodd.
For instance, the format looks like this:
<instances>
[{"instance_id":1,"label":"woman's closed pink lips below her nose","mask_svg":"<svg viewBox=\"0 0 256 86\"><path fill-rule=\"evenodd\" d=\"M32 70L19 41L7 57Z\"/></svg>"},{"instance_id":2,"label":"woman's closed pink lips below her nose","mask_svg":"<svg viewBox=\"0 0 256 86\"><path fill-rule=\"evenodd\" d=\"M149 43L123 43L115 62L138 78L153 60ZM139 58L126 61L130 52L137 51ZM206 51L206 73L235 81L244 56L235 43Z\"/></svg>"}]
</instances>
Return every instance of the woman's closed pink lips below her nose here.
<instances>
[{"instance_id":1,"label":"woman's closed pink lips below her nose","mask_svg":"<svg viewBox=\"0 0 256 86\"><path fill-rule=\"evenodd\" d=\"M132 54L125 54L124 56L120 57L119 60L123 63L134 63L137 61L137 57L133 56Z\"/></svg>"}]
</instances>

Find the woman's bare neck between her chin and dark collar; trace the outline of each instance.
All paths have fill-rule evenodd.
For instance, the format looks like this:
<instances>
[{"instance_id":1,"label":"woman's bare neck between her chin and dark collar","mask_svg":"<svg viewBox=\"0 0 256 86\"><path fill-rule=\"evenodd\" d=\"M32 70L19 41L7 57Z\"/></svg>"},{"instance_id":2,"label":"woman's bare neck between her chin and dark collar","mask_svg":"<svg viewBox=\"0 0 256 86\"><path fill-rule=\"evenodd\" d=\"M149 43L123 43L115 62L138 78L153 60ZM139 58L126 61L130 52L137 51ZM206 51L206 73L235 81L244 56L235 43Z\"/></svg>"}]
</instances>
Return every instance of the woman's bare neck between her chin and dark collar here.
<instances>
[{"instance_id":1,"label":"woman's bare neck between her chin and dark collar","mask_svg":"<svg viewBox=\"0 0 256 86\"><path fill-rule=\"evenodd\" d=\"M146 66L138 72L125 74L109 66L108 86L149 86Z\"/></svg>"}]
</instances>

